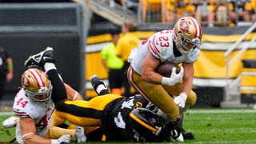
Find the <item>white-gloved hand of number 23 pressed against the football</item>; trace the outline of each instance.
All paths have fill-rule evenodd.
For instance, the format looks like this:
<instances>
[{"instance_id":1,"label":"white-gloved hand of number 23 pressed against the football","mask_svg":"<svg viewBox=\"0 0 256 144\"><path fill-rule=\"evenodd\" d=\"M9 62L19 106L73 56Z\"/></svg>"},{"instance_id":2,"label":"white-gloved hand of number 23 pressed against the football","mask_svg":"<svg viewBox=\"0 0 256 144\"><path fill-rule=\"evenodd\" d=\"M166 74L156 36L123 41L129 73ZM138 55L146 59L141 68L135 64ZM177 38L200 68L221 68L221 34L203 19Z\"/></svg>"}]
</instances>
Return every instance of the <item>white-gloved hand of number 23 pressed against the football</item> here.
<instances>
[{"instance_id":1,"label":"white-gloved hand of number 23 pressed against the football","mask_svg":"<svg viewBox=\"0 0 256 144\"><path fill-rule=\"evenodd\" d=\"M162 84L167 86L174 86L176 83L181 82L184 74L184 69L181 67L181 70L176 74L176 67L173 67L170 78L162 77Z\"/></svg>"}]
</instances>

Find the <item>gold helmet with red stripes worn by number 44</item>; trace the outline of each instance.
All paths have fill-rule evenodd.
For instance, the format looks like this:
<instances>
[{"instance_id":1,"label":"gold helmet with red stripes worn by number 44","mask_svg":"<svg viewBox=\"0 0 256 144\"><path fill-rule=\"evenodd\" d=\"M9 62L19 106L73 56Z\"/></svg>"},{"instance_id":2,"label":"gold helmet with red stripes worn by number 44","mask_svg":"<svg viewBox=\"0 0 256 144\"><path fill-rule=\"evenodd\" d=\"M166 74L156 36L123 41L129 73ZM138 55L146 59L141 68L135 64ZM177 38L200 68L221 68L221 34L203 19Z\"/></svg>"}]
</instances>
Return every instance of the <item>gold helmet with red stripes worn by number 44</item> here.
<instances>
[{"instance_id":1,"label":"gold helmet with red stripes worn by number 44","mask_svg":"<svg viewBox=\"0 0 256 144\"><path fill-rule=\"evenodd\" d=\"M22 74L22 88L25 90L26 96L33 102L40 105L46 105L50 102L53 86L42 70L35 68L26 70Z\"/></svg>"}]
</instances>

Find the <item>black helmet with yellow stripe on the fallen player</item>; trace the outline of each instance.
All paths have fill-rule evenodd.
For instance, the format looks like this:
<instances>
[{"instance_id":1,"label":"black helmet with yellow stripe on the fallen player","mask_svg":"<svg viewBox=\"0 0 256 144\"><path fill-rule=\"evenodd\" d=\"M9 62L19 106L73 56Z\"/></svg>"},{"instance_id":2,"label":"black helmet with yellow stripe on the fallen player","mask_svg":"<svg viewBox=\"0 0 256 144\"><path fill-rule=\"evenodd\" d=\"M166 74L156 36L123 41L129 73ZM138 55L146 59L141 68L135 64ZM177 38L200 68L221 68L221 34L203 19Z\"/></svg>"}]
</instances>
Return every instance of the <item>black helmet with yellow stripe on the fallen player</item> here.
<instances>
[{"instance_id":1,"label":"black helmet with yellow stripe on the fallen player","mask_svg":"<svg viewBox=\"0 0 256 144\"><path fill-rule=\"evenodd\" d=\"M162 138L165 138L166 125L157 114L146 108L132 110L129 123L138 134L146 138L146 142L162 141Z\"/></svg>"}]
</instances>

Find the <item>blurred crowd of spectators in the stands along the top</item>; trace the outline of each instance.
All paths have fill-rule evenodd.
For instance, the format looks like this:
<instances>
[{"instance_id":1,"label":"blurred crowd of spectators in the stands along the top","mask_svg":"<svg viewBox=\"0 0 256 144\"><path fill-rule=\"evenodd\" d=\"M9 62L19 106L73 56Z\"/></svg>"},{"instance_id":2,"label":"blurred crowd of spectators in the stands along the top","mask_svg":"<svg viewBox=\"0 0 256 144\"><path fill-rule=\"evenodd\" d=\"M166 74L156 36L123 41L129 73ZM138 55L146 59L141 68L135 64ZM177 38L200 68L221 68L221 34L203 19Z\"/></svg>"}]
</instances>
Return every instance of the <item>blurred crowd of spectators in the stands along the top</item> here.
<instances>
[{"instance_id":1,"label":"blurred crowd of spectators in the stands along the top","mask_svg":"<svg viewBox=\"0 0 256 144\"><path fill-rule=\"evenodd\" d=\"M142 22L174 23L182 16L192 16L203 26L234 26L256 21L255 0L102 0L110 7L120 5L136 14Z\"/></svg>"}]
</instances>

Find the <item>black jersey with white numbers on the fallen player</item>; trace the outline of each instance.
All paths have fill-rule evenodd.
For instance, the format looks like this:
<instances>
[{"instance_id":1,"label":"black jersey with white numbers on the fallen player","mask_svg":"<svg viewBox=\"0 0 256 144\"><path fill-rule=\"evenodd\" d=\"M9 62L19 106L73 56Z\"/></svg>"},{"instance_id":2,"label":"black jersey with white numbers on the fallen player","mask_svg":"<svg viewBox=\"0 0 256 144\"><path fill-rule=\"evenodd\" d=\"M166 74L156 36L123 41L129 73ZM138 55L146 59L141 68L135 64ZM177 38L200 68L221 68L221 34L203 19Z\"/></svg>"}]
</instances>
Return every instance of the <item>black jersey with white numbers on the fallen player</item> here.
<instances>
[{"instance_id":1,"label":"black jersey with white numbers on the fallen player","mask_svg":"<svg viewBox=\"0 0 256 144\"><path fill-rule=\"evenodd\" d=\"M150 102L141 95L129 98L119 98L106 106L102 129L107 141L141 142L142 138L131 128L128 122L129 114L138 107L146 107Z\"/></svg>"}]
</instances>

